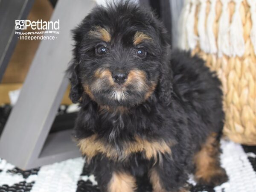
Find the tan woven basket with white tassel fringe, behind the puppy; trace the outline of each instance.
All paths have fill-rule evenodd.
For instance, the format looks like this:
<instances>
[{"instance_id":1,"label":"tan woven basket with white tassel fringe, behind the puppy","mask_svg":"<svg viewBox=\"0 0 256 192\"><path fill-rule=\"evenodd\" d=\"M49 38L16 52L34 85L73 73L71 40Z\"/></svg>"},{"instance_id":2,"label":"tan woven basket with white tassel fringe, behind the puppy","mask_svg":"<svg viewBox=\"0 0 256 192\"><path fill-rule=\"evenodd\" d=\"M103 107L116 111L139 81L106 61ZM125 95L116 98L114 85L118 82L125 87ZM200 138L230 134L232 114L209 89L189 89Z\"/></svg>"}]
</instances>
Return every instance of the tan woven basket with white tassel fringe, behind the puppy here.
<instances>
[{"instance_id":1,"label":"tan woven basket with white tassel fringe, behind the puppy","mask_svg":"<svg viewBox=\"0 0 256 192\"><path fill-rule=\"evenodd\" d=\"M256 0L186 0L179 24L179 47L222 81L224 135L256 145Z\"/></svg>"}]
</instances>

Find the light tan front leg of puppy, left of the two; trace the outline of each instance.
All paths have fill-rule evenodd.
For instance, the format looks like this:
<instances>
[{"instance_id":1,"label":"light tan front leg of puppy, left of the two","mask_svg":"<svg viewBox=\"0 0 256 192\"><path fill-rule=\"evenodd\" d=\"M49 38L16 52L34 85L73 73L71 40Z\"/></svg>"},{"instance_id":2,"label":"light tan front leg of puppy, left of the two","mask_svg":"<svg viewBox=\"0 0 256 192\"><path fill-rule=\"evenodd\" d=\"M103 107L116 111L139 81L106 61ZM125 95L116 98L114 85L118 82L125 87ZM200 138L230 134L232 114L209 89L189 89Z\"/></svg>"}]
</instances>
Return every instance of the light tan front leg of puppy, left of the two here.
<instances>
[{"instance_id":1,"label":"light tan front leg of puppy, left of the two","mask_svg":"<svg viewBox=\"0 0 256 192\"><path fill-rule=\"evenodd\" d=\"M128 173L114 172L108 184L108 192L134 192L136 188L135 178Z\"/></svg>"}]
</instances>

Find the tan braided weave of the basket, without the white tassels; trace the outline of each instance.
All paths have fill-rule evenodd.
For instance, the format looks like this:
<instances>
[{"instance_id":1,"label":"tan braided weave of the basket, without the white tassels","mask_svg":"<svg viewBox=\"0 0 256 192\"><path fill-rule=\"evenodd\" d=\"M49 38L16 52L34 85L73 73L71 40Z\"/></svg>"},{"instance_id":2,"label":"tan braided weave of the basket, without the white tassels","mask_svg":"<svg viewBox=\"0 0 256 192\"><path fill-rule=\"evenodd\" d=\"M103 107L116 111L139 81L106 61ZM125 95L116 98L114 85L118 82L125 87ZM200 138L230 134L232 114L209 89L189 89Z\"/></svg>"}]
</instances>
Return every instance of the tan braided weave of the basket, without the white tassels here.
<instances>
[{"instance_id":1,"label":"tan braided weave of the basket, without the white tassels","mask_svg":"<svg viewBox=\"0 0 256 192\"><path fill-rule=\"evenodd\" d=\"M252 9L250 9L247 0L241 0L241 4L239 5L239 15L242 23L241 27L243 28L243 54L239 56L236 54L226 55L222 52L222 54L219 55L218 40L220 40L219 38L223 39L223 37L220 37L219 35L219 23L223 12L223 0L205 1L206 31L207 22L209 21L207 18L209 17L209 12L211 12L212 9L211 4L216 3L214 9L214 20L211 27L214 34L217 52L202 50L202 46L200 45L198 20L200 19L199 17L202 17L202 15L199 14L202 6L202 0L190 0L189 2L190 14L193 10L192 3L196 3L196 7L194 4L194 31L192 29L192 32L196 37L196 45L192 48L188 45L188 48L192 49L192 55L198 54L201 56L201 58L206 61L207 66L209 66L211 70L216 71L219 79L222 81L222 89L224 92L224 111L226 113L224 135L238 143L256 145L256 47L253 47L251 38L253 26L251 17ZM237 0L235 0L235 2L231 0L227 4L228 15L230 18L228 22L230 23L230 26L233 22L233 15L236 11L236 3ZM254 25L256 25L256 23ZM232 34L231 32L229 33L231 38Z\"/></svg>"}]
</instances>

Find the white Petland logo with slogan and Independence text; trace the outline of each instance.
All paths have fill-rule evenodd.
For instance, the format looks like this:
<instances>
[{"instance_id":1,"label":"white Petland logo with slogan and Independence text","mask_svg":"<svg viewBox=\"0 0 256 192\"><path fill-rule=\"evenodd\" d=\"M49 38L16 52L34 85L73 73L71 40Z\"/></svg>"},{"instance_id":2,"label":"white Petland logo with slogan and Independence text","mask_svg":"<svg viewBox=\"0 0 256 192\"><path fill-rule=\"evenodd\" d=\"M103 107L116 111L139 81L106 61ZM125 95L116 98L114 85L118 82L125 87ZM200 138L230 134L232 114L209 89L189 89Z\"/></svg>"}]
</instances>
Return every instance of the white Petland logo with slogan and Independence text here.
<instances>
[{"instance_id":1,"label":"white Petland logo with slogan and Independence text","mask_svg":"<svg viewBox=\"0 0 256 192\"><path fill-rule=\"evenodd\" d=\"M52 34L59 34L60 20L57 21L31 21L31 20L15 20L15 30L32 29L35 32L17 32L15 34L20 35L20 40L55 40L58 37L52 36ZM51 34L51 35L47 35Z\"/></svg>"}]
</instances>

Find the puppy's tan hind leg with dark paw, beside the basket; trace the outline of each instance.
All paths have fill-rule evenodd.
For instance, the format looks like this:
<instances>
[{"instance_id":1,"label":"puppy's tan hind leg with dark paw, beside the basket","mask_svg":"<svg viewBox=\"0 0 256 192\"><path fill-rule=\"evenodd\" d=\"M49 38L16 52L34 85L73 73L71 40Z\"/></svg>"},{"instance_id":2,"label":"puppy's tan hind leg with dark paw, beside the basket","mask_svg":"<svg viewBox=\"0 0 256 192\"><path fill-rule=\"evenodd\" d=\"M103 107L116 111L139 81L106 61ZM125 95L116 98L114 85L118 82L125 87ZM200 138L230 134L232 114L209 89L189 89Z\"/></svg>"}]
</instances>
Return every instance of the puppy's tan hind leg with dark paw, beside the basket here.
<instances>
[{"instance_id":1,"label":"puppy's tan hind leg with dark paw, beside the basket","mask_svg":"<svg viewBox=\"0 0 256 192\"><path fill-rule=\"evenodd\" d=\"M201 150L195 155L195 178L205 184L218 185L227 180L226 172L220 166L219 142L216 133L212 133L202 145ZM219 177L219 178L217 178ZM222 178L223 177L223 178ZM220 183L219 183L220 182Z\"/></svg>"}]
</instances>

